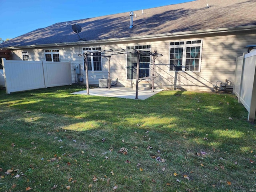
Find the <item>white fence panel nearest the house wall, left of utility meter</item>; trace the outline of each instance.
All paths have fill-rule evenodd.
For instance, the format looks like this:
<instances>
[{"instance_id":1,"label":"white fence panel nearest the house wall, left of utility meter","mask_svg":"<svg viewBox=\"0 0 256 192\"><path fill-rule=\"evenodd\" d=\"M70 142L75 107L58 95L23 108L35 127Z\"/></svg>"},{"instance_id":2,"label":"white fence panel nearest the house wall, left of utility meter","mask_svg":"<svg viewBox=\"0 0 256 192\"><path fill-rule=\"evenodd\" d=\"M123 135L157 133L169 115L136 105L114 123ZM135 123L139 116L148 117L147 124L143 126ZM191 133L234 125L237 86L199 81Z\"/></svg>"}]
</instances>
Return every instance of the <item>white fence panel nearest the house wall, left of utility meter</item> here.
<instances>
[{"instance_id":1,"label":"white fence panel nearest the house wall, left of utility meter","mask_svg":"<svg viewBox=\"0 0 256 192\"><path fill-rule=\"evenodd\" d=\"M43 62L45 88L72 84L70 62Z\"/></svg>"}]
</instances>

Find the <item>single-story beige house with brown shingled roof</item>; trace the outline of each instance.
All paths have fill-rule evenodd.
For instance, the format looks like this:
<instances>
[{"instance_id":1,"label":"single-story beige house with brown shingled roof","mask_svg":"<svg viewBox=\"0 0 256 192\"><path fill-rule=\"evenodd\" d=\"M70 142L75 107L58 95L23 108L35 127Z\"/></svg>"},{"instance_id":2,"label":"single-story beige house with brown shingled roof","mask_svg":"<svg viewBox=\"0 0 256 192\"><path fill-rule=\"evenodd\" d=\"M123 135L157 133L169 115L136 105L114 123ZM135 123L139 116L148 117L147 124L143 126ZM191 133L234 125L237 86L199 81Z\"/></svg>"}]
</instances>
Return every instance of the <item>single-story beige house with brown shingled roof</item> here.
<instances>
[{"instance_id":1,"label":"single-story beige house with brown shingled roof","mask_svg":"<svg viewBox=\"0 0 256 192\"><path fill-rule=\"evenodd\" d=\"M64 21L8 40L0 49L10 50L12 60L70 61L73 83L86 78L84 58L78 54L93 52L87 58L91 85L108 78L108 60L98 50L157 51L163 56L155 60L156 88L210 91L217 81L227 79L232 86L236 57L256 44L255 8L255 0L195 0ZM74 24L81 32L72 30ZM116 86L134 86L136 63L132 53L111 57ZM139 77L150 75L152 56L142 54Z\"/></svg>"}]
</instances>

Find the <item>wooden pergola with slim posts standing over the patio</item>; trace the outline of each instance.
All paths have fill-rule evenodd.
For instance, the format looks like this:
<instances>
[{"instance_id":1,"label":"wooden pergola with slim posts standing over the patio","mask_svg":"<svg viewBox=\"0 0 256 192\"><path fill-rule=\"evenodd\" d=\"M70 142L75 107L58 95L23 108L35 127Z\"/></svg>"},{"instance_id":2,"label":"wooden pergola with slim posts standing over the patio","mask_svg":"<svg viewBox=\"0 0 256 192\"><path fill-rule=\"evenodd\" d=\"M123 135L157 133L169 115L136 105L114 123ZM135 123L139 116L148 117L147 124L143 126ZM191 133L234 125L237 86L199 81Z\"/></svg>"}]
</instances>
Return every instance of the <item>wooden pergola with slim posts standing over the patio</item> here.
<instances>
[{"instance_id":1,"label":"wooden pergola with slim posts standing over the patio","mask_svg":"<svg viewBox=\"0 0 256 192\"><path fill-rule=\"evenodd\" d=\"M151 80L152 92L154 92L154 78L157 77L157 76L154 75L155 59L158 56L162 56L162 54L157 53L157 51L147 52L147 51L142 51L142 50L137 50L137 49L134 49L134 50L126 50L126 49L113 50L113 49L109 49L109 50L87 51L87 52L84 52L83 55L78 54L79 56L82 56L85 60L86 90L87 90L88 95L89 95L89 82L88 82L87 56L93 56L93 53L96 53L96 52L101 52L101 57L107 58L107 60L108 60L108 89L110 89L110 86L111 86L111 80L110 80L110 58L111 58L111 56L118 55L118 54L134 53L134 54L137 55L137 69L139 69L140 68L140 57L142 56L142 54L151 55L153 57L152 58L152 76L139 78L139 74L136 75L136 96L135 96L135 99L138 99L138 84L141 80L150 79Z\"/></svg>"}]
</instances>

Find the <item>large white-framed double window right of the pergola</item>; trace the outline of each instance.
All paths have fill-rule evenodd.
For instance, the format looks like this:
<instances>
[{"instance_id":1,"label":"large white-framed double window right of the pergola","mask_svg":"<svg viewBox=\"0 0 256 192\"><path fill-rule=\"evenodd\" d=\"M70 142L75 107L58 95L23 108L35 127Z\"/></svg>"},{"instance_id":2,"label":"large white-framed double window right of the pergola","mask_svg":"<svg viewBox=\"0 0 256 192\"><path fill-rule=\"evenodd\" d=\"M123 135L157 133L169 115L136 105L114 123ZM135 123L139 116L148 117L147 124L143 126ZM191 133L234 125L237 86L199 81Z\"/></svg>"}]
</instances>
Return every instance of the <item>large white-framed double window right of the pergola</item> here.
<instances>
[{"instance_id":1,"label":"large white-framed double window right of the pergola","mask_svg":"<svg viewBox=\"0 0 256 192\"><path fill-rule=\"evenodd\" d=\"M200 71L202 40L170 42L170 71Z\"/></svg>"}]
</instances>

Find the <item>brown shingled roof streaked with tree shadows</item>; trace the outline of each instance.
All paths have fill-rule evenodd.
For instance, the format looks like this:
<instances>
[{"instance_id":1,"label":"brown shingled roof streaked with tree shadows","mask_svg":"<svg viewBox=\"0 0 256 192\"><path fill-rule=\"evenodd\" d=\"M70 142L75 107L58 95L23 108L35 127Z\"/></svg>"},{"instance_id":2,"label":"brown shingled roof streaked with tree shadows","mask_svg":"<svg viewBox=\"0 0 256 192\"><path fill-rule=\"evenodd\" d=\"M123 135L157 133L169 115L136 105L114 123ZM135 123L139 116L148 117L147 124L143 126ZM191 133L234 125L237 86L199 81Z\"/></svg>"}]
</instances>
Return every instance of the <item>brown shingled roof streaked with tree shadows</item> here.
<instances>
[{"instance_id":1,"label":"brown shingled roof streaked with tree shadows","mask_svg":"<svg viewBox=\"0 0 256 192\"><path fill-rule=\"evenodd\" d=\"M208 4L208 8L206 7ZM72 30L79 24L83 42L109 39L178 34L199 30L256 27L256 0L196 0L187 3L161 6L134 11L134 27L130 26L130 12L64 21L40 28L0 44L0 48L42 46L46 44L69 44L78 42ZM66 26L66 22L68 26Z\"/></svg>"}]
</instances>

